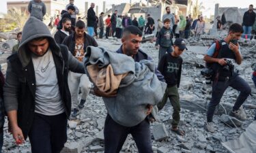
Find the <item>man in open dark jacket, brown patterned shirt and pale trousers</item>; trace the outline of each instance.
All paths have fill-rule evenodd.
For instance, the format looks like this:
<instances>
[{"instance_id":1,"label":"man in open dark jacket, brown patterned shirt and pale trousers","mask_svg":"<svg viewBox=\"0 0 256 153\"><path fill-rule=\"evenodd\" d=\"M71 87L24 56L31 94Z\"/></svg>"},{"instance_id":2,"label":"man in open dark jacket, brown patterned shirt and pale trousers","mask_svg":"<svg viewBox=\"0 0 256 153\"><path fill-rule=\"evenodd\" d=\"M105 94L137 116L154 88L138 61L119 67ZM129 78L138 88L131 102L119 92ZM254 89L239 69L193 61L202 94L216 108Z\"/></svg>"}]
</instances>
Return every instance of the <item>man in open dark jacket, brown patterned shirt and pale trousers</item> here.
<instances>
[{"instance_id":1,"label":"man in open dark jacket, brown patterned shirt and pale trousers","mask_svg":"<svg viewBox=\"0 0 256 153\"><path fill-rule=\"evenodd\" d=\"M94 37L91 37L85 33L85 22L79 20L76 22L75 33L69 35L62 42L63 45L68 46L68 50L79 61L83 61L85 56L85 50L87 46L95 46L98 44ZM68 86L70 87L70 93L72 98L72 119L75 119L79 114L79 109L83 109L87 96L89 95L89 87L91 82L85 74L73 73L70 71L68 76ZM79 86L81 88L81 101L79 103Z\"/></svg>"}]
</instances>

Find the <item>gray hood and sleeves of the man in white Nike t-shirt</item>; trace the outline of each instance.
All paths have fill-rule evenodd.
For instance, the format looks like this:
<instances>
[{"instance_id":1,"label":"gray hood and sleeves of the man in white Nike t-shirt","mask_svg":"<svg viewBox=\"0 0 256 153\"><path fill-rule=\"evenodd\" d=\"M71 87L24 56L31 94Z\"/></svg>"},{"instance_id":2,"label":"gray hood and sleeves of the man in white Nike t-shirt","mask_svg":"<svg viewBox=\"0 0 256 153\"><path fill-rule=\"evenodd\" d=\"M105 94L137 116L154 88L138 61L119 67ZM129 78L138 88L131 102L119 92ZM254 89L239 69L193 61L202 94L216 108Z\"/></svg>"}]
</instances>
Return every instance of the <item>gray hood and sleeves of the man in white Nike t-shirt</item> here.
<instances>
[{"instance_id":1,"label":"gray hood and sleeves of the man in white Nike t-shirt","mask_svg":"<svg viewBox=\"0 0 256 153\"><path fill-rule=\"evenodd\" d=\"M30 17L23 27L23 37L20 41L20 46L18 47L17 53L23 67L27 67L31 61L32 53L27 50L27 43L38 37L47 37L51 51L54 54L57 54L57 56L62 57L61 50L51 35L51 32L46 27L46 24L37 18ZM70 70L83 69L83 64L77 61L70 52L68 52L68 65ZM8 112L10 110L18 109L18 95L16 91L18 91L19 88L16 74L12 71L9 61L6 76L8 77L6 77L5 80L3 97L5 99L5 110Z\"/></svg>"}]
</instances>

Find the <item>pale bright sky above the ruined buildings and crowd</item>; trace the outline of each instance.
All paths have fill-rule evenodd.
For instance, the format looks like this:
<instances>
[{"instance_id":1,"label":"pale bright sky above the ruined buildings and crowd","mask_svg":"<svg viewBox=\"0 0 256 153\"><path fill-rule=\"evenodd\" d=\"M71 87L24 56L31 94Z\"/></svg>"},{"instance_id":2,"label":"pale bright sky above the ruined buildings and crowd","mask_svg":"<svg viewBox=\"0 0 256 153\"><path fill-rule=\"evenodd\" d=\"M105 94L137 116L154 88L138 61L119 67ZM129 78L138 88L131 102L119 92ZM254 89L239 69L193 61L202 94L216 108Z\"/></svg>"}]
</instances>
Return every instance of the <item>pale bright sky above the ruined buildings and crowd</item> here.
<instances>
[{"instance_id":1,"label":"pale bright sky above the ruined buildings and crowd","mask_svg":"<svg viewBox=\"0 0 256 153\"><path fill-rule=\"evenodd\" d=\"M5 3L6 1L24 1L24 0L0 0L1 5L0 5L0 13L1 12L6 12L6 6ZM106 1L106 7L111 8L111 5L114 4L119 4L119 3L130 3L130 0L104 0ZM145 3L145 0L142 0ZM193 0L195 1L195 0ZM220 7L248 7L248 5L253 4L256 7L256 1L253 0L199 0L203 1L203 6L205 7L205 10L203 10L203 16L210 16L214 14L214 6L215 3L220 3ZM99 12L102 12L102 2L103 0L88 0L89 3L94 2L96 5L99 6ZM132 3L134 2L139 2L139 0L132 0ZM83 6L85 0L75 0L74 4L77 6ZM195 3L195 2L194 2ZM4 4L4 5L2 5Z\"/></svg>"}]
</instances>

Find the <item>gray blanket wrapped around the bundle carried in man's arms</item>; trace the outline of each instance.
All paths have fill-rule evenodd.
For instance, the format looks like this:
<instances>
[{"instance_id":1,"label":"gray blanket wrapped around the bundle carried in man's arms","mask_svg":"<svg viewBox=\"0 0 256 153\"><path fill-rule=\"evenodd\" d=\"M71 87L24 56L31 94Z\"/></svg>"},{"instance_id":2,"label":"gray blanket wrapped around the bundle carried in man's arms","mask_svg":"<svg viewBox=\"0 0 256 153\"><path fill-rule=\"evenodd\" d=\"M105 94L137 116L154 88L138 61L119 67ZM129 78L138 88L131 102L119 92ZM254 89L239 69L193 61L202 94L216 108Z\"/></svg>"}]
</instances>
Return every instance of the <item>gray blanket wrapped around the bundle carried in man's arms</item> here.
<instances>
[{"instance_id":1,"label":"gray blanket wrapped around the bundle carried in man's arms","mask_svg":"<svg viewBox=\"0 0 256 153\"><path fill-rule=\"evenodd\" d=\"M115 74L130 73L119 86L116 97L103 97L106 109L118 124L135 126L146 118L147 105L156 105L162 100L167 84L160 82L154 73L153 61L135 63L130 56L117 54L89 46L84 58L87 65L106 67L111 65Z\"/></svg>"}]
</instances>

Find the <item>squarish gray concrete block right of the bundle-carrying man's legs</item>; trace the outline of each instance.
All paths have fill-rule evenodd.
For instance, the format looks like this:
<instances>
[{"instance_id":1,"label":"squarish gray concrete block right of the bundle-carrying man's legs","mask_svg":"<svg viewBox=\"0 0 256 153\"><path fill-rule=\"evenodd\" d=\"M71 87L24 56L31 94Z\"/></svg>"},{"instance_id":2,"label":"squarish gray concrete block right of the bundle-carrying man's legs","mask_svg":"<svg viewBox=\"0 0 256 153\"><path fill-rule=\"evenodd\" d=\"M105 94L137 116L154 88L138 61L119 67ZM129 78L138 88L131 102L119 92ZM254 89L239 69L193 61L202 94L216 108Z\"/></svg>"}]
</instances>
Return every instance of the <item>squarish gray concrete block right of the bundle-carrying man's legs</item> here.
<instances>
[{"instance_id":1,"label":"squarish gray concrete block right of the bundle-carrying man's legs","mask_svg":"<svg viewBox=\"0 0 256 153\"><path fill-rule=\"evenodd\" d=\"M153 136L155 141L161 141L163 139L167 139L169 134L167 129L165 128L165 124L158 124L153 127Z\"/></svg>"}]
</instances>

